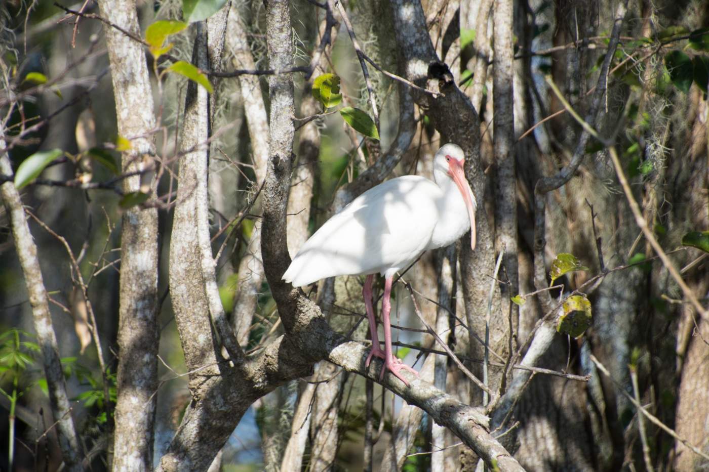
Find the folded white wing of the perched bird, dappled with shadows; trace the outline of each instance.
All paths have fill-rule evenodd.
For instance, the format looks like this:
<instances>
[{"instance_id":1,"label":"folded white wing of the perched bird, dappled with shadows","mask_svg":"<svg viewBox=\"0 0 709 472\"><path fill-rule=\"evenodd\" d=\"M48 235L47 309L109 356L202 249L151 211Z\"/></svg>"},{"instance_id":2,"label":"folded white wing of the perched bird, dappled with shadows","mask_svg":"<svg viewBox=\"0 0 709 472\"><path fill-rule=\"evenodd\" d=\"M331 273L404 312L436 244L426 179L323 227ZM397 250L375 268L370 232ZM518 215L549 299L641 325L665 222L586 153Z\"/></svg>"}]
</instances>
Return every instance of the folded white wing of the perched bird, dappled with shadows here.
<instances>
[{"instance_id":1,"label":"folded white wing of the perched bird, dappled with shadows","mask_svg":"<svg viewBox=\"0 0 709 472\"><path fill-rule=\"evenodd\" d=\"M440 189L403 176L362 193L301 247L284 280L303 286L325 277L401 268L430 241Z\"/></svg>"}]
</instances>

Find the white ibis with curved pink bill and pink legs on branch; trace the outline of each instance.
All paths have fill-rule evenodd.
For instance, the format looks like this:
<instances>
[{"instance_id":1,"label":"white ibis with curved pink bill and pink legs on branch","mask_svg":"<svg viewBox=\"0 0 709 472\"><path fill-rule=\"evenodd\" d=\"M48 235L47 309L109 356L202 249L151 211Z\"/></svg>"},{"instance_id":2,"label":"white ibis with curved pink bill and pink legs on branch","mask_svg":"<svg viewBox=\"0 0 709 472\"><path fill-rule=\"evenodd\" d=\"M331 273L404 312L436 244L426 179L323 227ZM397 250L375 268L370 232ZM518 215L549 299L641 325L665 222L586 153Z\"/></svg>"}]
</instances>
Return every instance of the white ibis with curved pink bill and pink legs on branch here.
<instances>
[{"instance_id":1,"label":"white ibis with curved pink bill and pink legs on branch","mask_svg":"<svg viewBox=\"0 0 709 472\"><path fill-rule=\"evenodd\" d=\"M418 373L391 352L391 283L397 271L413 263L428 249L452 244L471 230L475 249L476 201L463 172L464 153L454 144L436 152L435 182L408 175L391 179L362 193L330 218L298 251L283 279L296 287L326 277L367 275L364 305L372 334L372 356L384 359L380 379L389 369L408 386L402 369ZM379 272L385 278L381 318L384 351L379 347L372 308L372 282Z\"/></svg>"}]
</instances>

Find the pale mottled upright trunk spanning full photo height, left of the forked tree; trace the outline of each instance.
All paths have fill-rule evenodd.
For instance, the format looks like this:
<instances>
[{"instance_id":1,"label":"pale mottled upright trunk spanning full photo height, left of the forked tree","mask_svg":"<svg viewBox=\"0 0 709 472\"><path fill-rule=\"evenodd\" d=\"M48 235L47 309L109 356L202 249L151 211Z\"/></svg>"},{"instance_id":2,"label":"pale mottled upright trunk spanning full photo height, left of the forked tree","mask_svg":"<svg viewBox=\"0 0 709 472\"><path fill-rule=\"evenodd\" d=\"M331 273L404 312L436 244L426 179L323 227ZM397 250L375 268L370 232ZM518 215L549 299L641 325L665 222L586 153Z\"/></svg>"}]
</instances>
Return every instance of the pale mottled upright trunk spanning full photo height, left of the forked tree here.
<instances>
[{"instance_id":1,"label":"pale mottled upright trunk spanning full photo height, left of the forked tree","mask_svg":"<svg viewBox=\"0 0 709 472\"><path fill-rule=\"evenodd\" d=\"M102 0L101 16L140 36L135 1ZM129 139L123 152L123 172L156 165L152 130L155 128L152 91L143 46L114 28L105 28L111 60L113 96L116 99L118 133ZM155 169L152 169L154 172ZM140 191L133 176L123 181L123 191ZM150 182L152 188L152 182ZM119 295L118 400L113 442L113 470L152 468L152 447L157 390L157 210L130 208L123 213Z\"/></svg>"}]
</instances>

